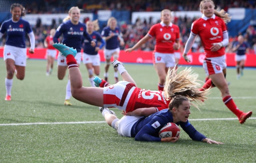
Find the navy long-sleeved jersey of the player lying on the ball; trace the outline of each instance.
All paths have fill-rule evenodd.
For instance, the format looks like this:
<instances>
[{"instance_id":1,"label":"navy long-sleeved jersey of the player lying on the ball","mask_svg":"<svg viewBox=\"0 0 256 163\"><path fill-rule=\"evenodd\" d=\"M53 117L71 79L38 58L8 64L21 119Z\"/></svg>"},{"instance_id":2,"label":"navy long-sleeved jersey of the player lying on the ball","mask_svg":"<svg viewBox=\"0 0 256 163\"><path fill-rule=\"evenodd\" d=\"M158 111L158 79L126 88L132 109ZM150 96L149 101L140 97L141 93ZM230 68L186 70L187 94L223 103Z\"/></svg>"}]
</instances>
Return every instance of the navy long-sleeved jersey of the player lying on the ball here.
<instances>
[{"instance_id":1,"label":"navy long-sleeved jersey of the player lying on the ball","mask_svg":"<svg viewBox=\"0 0 256 163\"><path fill-rule=\"evenodd\" d=\"M158 136L159 130L168 122L173 122L172 112L168 109L163 109L148 117L142 117L132 126L131 137L135 137L135 140L138 141L161 141ZM176 124L180 125L192 140L202 141L206 138L188 120Z\"/></svg>"}]
</instances>

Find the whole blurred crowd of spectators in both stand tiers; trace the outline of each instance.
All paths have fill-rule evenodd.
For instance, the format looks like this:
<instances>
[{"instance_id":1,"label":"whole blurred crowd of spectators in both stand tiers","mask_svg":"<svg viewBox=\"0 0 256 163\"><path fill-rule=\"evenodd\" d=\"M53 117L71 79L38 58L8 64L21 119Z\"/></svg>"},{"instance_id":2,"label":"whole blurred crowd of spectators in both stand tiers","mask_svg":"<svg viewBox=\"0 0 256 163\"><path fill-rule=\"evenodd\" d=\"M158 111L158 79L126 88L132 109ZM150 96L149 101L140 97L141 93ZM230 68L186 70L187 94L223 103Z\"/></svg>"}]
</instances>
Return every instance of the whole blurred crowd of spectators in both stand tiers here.
<instances>
[{"instance_id":1,"label":"whole blurred crowd of spectators in both stand tiers","mask_svg":"<svg viewBox=\"0 0 256 163\"><path fill-rule=\"evenodd\" d=\"M106 0L106 1L98 1L98 0L87 0L86 2L82 0L77 0L71 3L68 0L46 0L46 1L32 1L31 3L25 4L25 8L27 12L30 13L68 13L68 10L72 6L79 6L82 8L83 12L97 12L99 9L109 9L109 10L130 10L130 11L161 11L164 8L171 9L172 11L187 11L187 10L199 10L197 5L201 0L185 0L185 1L176 1L176 0L138 0L136 2L128 1L120 1L120 0ZM75 4L74 4L75 3ZM227 0L221 1L216 0L215 4L217 4L220 8L227 10L229 7L247 7L247 8L255 8L256 2L254 0ZM37 6L37 7L35 7ZM181 39L183 45L185 45L189 34L191 24L194 20L191 18L174 18L174 24L177 24L180 28ZM83 23L86 23L88 19L85 18ZM62 22L59 20L55 22L52 21L52 24L42 25L41 20L38 19L37 23L33 28L35 39L36 39L36 48L44 48L44 39L47 35L49 35L50 30L52 28L57 28L58 25ZM160 22L160 16L159 21ZM147 22L146 20L137 19L135 24L127 24L126 22L118 22L118 26L123 33L123 38L125 41L125 46L121 47L121 49L127 49L135 45L141 38L143 38L150 27L153 25L151 21ZM101 33L101 31L98 31ZM250 53L256 53L256 32L255 27L250 26L246 33L243 34L245 41L247 41L251 47ZM61 39L61 38L60 38ZM237 37L230 37L229 45L226 48L227 53L232 53L232 44L237 40ZM4 37L0 40L0 46L3 46L5 43ZM27 39L27 44L29 45L29 40ZM144 51L152 51L154 50L155 39L152 38L146 44L144 44L139 50ZM197 37L195 43L192 46L192 52L203 52L203 48L200 42L200 38Z\"/></svg>"}]
</instances>

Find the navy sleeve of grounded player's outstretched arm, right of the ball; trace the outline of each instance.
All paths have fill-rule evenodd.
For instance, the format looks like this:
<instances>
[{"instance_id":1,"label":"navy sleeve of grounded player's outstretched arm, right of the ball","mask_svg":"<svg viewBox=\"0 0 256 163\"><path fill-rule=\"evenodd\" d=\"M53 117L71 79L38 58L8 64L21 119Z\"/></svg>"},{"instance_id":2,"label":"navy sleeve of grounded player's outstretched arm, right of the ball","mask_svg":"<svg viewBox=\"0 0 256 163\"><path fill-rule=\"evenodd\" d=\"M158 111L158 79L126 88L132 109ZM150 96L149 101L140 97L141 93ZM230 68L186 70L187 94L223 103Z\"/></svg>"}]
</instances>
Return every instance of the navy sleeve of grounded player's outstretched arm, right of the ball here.
<instances>
[{"instance_id":1,"label":"navy sleeve of grounded player's outstretched arm, right of the ball","mask_svg":"<svg viewBox=\"0 0 256 163\"><path fill-rule=\"evenodd\" d=\"M189 121L187 120L187 122L181 122L180 123L181 128L189 135L189 137L192 140L196 140L196 141L202 141L203 139L206 138L206 136L204 136L203 134L201 134L200 132L198 132L193 126L192 124L189 123Z\"/></svg>"}]
</instances>

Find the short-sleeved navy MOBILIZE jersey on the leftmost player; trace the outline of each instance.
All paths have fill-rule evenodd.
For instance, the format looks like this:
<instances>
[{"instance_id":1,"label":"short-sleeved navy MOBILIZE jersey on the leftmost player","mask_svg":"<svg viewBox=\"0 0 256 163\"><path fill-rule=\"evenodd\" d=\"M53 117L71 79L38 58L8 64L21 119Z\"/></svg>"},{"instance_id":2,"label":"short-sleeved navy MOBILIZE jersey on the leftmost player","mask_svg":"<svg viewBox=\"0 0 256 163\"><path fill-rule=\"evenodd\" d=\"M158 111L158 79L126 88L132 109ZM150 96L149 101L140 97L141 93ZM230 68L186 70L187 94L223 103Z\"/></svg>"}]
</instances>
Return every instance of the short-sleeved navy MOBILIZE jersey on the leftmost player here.
<instances>
[{"instance_id":1,"label":"short-sleeved navy MOBILIZE jersey on the leftmost player","mask_svg":"<svg viewBox=\"0 0 256 163\"><path fill-rule=\"evenodd\" d=\"M15 46L19 48L26 48L25 36L26 33L33 32L30 24L20 19L18 22L13 22L12 19L3 22L0 32L7 34L6 45Z\"/></svg>"}]
</instances>

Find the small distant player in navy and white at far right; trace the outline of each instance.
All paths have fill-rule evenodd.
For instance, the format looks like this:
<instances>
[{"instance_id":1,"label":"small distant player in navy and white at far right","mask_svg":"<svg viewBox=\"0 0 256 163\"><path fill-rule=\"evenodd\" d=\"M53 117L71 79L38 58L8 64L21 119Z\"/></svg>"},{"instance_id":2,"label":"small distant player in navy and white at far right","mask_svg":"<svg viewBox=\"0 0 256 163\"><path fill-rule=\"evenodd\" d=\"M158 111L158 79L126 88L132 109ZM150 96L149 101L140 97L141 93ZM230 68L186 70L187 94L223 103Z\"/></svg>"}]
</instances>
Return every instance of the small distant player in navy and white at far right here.
<instances>
[{"instance_id":1,"label":"small distant player in navy and white at far right","mask_svg":"<svg viewBox=\"0 0 256 163\"><path fill-rule=\"evenodd\" d=\"M246 60L246 53L249 52L249 45L244 41L244 37L239 35L237 41L233 44L233 51L236 51L235 61L236 61L236 74L237 79L240 79L240 74L243 76L244 64ZM241 71L240 71L241 69Z\"/></svg>"}]
</instances>

